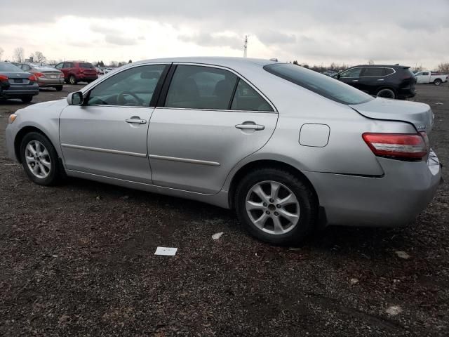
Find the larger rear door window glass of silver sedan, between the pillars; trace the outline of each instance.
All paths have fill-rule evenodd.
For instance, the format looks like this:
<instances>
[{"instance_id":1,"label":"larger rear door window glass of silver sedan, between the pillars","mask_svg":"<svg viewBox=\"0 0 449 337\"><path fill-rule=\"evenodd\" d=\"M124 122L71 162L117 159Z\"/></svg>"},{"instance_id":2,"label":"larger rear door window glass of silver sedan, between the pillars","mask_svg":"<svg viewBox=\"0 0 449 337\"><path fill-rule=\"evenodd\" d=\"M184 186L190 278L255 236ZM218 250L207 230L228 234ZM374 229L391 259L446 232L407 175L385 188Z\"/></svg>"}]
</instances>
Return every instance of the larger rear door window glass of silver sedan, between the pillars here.
<instances>
[{"instance_id":1,"label":"larger rear door window glass of silver sedan, between the pillars","mask_svg":"<svg viewBox=\"0 0 449 337\"><path fill-rule=\"evenodd\" d=\"M237 77L198 65L178 65L168 88L166 107L228 110Z\"/></svg>"}]
</instances>

